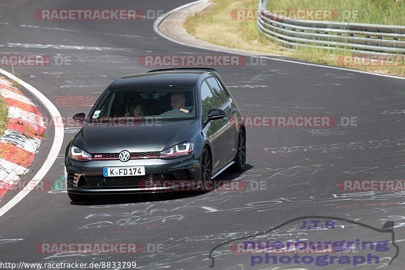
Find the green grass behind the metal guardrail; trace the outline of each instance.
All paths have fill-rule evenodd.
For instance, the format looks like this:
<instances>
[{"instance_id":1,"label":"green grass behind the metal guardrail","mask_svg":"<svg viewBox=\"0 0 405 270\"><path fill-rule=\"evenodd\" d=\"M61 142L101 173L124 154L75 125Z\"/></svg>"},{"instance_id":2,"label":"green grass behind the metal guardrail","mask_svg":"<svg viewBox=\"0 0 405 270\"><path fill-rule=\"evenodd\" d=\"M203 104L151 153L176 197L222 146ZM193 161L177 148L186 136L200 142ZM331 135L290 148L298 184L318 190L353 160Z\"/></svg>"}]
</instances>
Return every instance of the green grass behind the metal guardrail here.
<instances>
[{"instance_id":1,"label":"green grass behind the metal guardrail","mask_svg":"<svg viewBox=\"0 0 405 270\"><path fill-rule=\"evenodd\" d=\"M337 10L338 17L333 21L405 25L404 0L270 0L267 9ZM358 16L352 16L353 12Z\"/></svg>"}]
</instances>

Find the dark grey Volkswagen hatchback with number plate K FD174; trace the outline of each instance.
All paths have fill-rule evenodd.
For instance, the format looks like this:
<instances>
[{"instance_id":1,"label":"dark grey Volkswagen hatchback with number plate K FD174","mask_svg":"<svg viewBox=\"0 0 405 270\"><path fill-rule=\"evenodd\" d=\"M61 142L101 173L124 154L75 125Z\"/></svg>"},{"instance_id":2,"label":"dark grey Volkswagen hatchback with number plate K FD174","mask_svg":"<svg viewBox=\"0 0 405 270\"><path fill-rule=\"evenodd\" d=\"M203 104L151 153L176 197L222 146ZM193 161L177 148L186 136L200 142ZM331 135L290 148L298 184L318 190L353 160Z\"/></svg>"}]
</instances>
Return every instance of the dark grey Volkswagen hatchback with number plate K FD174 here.
<instances>
[{"instance_id":1,"label":"dark grey Volkswagen hatchback with number plate K FD174","mask_svg":"<svg viewBox=\"0 0 405 270\"><path fill-rule=\"evenodd\" d=\"M246 164L246 130L212 68L124 76L101 94L65 153L72 201L93 194L210 190L228 167Z\"/></svg>"}]
</instances>

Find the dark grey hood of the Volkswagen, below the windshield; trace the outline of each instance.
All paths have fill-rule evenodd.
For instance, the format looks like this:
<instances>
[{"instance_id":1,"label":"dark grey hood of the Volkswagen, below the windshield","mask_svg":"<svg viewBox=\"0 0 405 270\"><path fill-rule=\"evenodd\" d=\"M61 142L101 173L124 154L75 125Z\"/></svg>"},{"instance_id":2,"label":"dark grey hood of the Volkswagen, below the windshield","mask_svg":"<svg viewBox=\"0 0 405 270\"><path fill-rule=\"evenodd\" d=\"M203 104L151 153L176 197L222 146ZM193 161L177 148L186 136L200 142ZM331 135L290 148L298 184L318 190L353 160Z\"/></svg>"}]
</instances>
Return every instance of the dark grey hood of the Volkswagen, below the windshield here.
<instances>
[{"instance_id":1,"label":"dark grey hood of the Volkswagen, below the windshield","mask_svg":"<svg viewBox=\"0 0 405 270\"><path fill-rule=\"evenodd\" d=\"M136 127L84 125L72 144L90 153L161 151L186 141L198 128L198 120L162 121Z\"/></svg>"}]
</instances>

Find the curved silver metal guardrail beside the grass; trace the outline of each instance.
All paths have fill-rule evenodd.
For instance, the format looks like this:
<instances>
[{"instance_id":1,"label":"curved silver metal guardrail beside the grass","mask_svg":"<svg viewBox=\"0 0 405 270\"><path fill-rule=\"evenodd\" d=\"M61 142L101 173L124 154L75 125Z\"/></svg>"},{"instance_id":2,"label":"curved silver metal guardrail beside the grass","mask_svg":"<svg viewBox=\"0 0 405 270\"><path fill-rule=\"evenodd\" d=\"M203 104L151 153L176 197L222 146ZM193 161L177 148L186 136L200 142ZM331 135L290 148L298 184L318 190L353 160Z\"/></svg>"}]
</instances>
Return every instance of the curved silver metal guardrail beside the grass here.
<instances>
[{"instance_id":1,"label":"curved silver metal guardrail beside the grass","mask_svg":"<svg viewBox=\"0 0 405 270\"><path fill-rule=\"evenodd\" d=\"M314 47L361 54L405 54L405 26L297 20L267 10L259 0L259 30L288 49Z\"/></svg>"}]
</instances>

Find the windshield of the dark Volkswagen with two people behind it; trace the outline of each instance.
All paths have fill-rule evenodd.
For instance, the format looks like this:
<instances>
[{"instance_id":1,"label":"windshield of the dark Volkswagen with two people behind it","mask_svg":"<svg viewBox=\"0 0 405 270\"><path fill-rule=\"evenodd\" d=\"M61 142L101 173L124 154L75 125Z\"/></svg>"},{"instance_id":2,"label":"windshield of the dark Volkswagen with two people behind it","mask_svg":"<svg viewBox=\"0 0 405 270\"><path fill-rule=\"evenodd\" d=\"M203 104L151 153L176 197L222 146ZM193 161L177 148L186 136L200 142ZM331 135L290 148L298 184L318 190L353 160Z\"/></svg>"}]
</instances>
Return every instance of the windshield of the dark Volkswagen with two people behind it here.
<instances>
[{"instance_id":1,"label":"windshield of the dark Volkswagen with two people behind it","mask_svg":"<svg viewBox=\"0 0 405 270\"><path fill-rule=\"evenodd\" d=\"M95 105L90 122L110 118L194 119L194 86L148 86L108 90Z\"/></svg>"}]
</instances>

